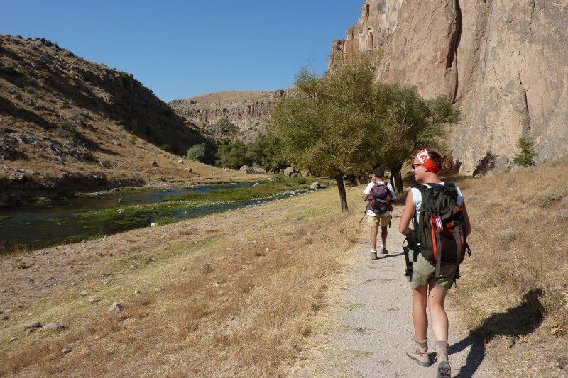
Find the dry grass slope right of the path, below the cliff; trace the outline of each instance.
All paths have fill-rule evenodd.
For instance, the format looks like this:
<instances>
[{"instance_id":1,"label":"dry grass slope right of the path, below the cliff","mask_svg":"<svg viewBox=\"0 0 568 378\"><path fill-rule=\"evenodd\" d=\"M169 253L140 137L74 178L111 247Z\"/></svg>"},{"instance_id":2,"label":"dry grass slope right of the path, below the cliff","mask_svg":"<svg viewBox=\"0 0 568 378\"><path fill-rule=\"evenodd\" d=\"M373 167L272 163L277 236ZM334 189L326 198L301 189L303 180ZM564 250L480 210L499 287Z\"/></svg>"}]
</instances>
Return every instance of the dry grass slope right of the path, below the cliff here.
<instances>
[{"instance_id":1,"label":"dry grass slope right of the path, below the cliff","mask_svg":"<svg viewBox=\"0 0 568 378\"><path fill-rule=\"evenodd\" d=\"M507 376L566 374L567 165L562 159L463 185L474 255L456 298Z\"/></svg>"}]
</instances>

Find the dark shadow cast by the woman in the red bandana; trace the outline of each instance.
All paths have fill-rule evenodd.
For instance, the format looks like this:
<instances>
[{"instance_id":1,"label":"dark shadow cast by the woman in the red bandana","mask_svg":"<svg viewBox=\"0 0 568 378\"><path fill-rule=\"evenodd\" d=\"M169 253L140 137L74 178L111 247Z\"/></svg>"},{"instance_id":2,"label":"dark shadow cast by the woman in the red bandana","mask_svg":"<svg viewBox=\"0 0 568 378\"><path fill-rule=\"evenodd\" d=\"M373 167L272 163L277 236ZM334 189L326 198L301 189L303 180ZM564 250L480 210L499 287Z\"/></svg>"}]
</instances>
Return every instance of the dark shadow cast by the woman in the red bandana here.
<instances>
[{"instance_id":1,"label":"dark shadow cast by the woman in the red bandana","mask_svg":"<svg viewBox=\"0 0 568 378\"><path fill-rule=\"evenodd\" d=\"M481 326L472 330L464 340L449 347L449 354L460 352L471 345L465 366L460 367L456 377L471 377L486 355L485 345L497 336L518 338L532 333L542 323L542 289L532 289L523 296L516 307L487 318Z\"/></svg>"}]
</instances>

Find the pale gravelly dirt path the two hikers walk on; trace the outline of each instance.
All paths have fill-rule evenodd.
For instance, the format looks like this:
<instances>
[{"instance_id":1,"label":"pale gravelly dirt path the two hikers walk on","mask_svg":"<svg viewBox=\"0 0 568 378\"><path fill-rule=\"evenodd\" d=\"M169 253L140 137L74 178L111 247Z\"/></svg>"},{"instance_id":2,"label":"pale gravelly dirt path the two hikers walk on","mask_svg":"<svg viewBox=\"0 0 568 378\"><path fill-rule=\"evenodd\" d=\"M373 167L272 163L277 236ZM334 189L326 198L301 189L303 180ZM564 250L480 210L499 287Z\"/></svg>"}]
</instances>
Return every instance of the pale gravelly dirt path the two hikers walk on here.
<instances>
[{"instance_id":1,"label":"pale gravelly dirt path the two hikers walk on","mask_svg":"<svg viewBox=\"0 0 568 378\"><path fill-rule=\"evenodd\" d=\"M339 299L339 306L344 309L334 315L338 326L332 327L334 330L322 340L312 340L308 347L312 350L305 356L307 364L296 370L297 377L436 376L436 365L420 367L405 355L413 335L412 298L403 277L405 263L400 247L403 236L397 229L399 220L394 218L389 230L389 255L373 261L368 243L361 245ZM466 328L459 326L459 313L452 308L451 296L452 291L447 303L452 377L496 376L491 374L482 340L469 337ZM430 328L428 340L433 360L435 338Z\"/></svg>"}]
</instances>

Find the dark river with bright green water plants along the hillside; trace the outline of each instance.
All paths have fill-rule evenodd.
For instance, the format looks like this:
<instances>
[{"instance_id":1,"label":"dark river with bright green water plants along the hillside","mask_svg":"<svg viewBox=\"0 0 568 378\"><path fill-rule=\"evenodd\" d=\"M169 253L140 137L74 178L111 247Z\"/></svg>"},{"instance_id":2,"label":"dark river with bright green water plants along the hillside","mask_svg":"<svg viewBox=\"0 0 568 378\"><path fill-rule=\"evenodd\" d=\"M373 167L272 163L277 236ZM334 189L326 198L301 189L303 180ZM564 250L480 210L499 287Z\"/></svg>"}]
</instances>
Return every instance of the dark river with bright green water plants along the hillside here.
<instances>
[{"instance_id":1,"label":"dark river with bright green water plants along the hillside","mask_svg":"<svg viewBox=\"0 0 568 378\"><path fill-rule=\"evenodd\" d=\"M118 189L6 209L0 218L0 255L262 204L301 194L317 180L282 175L263 179L176 189Z\"/></svg>"}]
</instances>

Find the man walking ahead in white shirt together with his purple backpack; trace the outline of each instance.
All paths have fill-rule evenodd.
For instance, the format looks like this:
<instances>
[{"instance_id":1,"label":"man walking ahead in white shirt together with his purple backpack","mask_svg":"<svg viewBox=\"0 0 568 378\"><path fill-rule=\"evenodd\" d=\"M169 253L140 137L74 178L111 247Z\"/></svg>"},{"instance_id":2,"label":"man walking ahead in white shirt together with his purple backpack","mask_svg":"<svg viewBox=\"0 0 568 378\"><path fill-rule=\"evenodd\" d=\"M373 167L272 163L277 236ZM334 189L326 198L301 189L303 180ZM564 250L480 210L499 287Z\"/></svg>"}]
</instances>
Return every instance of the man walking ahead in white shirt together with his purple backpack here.
<instances>
[{"instance_id":1,"label":"man walking ahead in white shirt together with his purple backpack","mask_svg":"<svg viewBox=\"0 0 568 378\"><path fill-rule=\"evenodd\" d=\"M386 249L386 237L388 226L391 225L391 201L396 199L395 191L391 184L384 181L385 172L381 168L375 169L375 179L369 183L363 191L364 201L367 204L367 224L371 226L371 259L377 260L377 234L378 226L381 226L381 253L388 254Z\"/></svg>"}]
</instances>

